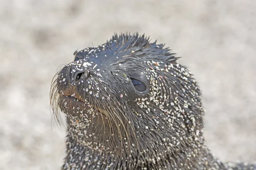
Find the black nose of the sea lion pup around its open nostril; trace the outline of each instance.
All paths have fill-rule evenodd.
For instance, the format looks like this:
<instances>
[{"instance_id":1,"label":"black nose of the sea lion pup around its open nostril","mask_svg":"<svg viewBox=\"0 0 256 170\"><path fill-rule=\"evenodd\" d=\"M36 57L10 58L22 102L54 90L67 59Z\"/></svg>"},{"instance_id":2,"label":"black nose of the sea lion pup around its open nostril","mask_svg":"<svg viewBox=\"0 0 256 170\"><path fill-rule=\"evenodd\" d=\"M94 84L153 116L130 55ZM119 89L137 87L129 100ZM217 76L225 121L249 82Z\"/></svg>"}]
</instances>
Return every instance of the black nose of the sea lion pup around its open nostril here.
<instances>
[{"instance_id":1,"label":"black nose of the sea lion pup around its open nostril","mask_svg":"<svg viewBox=\"0 0 256 170\"><path fill-rule=\"evenodd\" d=\"M70 67L67 69L67 77L68 81L71 85L79 82L80 79L86 79L90 75L89 71L79 71L76 70L74 67Z\"/></svg>"}]
</instances>

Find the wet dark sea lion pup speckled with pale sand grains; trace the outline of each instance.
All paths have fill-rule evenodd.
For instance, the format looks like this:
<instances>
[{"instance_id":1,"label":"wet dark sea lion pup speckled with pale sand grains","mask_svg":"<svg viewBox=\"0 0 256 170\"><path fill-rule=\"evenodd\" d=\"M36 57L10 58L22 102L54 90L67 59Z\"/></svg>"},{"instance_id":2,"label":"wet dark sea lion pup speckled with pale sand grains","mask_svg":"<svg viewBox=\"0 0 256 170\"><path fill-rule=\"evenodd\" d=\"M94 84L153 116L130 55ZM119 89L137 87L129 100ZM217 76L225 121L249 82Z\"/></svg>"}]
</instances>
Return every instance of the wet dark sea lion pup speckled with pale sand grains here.
<instances>
[{"instance_id":1,"label":"wet dark sea lion pup speckled with pale sand grains","mask_svg":"<svg viewBox=\"0 0 256 170\"><path fill-rule=\"evenodd\" d=\"M240 169L212 156L204 140L201 91L163 44L115 34L74 53L54 77L51 105L67 117L62 169ZM256 165L247 165L256 169Z\"/></svg>"}]
</instances>

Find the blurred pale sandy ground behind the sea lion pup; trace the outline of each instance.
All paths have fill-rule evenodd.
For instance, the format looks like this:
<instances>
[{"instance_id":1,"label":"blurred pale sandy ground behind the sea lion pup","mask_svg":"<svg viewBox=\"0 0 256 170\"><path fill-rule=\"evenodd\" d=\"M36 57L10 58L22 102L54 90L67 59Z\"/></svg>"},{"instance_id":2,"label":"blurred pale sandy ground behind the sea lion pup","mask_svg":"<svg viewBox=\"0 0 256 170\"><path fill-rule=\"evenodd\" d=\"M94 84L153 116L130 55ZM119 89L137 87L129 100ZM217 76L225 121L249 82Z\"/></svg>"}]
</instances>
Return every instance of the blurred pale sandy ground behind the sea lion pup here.
<instances>
[{"instance_id":1,"label":"blurred pale sandy ground behind the sea lion pup","mask_svg":"<svg viewBox=\"0 0 256 170\"><path fill-rule=\"evenodd\" d=\"M204 92L209 148L256 160L256 1L0 0L0 169L57 170L49 89L73 52L131 31L166 42Z\"/></svg>"}]
</instances>

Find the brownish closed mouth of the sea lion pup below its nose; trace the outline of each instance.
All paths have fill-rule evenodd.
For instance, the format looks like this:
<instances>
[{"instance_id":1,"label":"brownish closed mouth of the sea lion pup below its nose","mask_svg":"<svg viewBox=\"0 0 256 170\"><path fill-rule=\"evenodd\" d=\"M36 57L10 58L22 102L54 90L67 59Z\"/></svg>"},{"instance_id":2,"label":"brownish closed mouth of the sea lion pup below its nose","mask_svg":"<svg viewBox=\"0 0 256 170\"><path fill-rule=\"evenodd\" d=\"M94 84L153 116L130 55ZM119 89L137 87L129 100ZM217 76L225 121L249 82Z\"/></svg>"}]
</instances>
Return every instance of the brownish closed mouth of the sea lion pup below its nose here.
<instances>
[{"instance_id":1,"label":"brownish closed mouth of the sea lion pup below its nose","mask_svg":"<svg viewBox=\"0 0 256 170\"><path fill-rule=\"evenodd\" d=\"M59 106L63 109L66 110L67 108L69 108L69 106L74 106L73 109L78 109L81 113L81 111L85 111L87 112L88 110L93 111L94 113L98 113L98 115L102 115L107 117L108 113L106 113L106 111L93 107L90 104L87 104L86 102L84 102L84 100L81 98L81 96L78 98L76 97L76 94L73 94L71 96L65 96L62 95L59 98ZM69 111L67 111L69 112Z\"/></svg>"}]
</instances>

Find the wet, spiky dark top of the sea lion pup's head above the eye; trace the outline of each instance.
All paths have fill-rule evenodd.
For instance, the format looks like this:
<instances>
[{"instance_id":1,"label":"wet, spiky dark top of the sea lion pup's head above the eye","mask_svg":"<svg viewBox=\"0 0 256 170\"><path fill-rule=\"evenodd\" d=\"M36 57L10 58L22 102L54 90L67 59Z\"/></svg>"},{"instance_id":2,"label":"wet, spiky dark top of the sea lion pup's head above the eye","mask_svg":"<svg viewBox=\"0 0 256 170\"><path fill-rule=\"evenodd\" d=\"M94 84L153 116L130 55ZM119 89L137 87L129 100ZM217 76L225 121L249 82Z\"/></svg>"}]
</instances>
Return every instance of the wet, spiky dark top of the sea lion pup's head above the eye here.
<instances>
[{"instance_id":1,"label":"wet, spiky dark top of the sea lion pup's head above the eye","mask_svg":"<svg viewBox=\"0 0 256 170\"><path fill-rule=\"evenodd\" d=\"M113 69L115 65L128 68L139 62L159 61L167 64L177 59L169 48L163 48L164 44L149 41L144 35L116 34L103 45L76 51L74 62L80 60L80 64L88 62L92 67Z\"/></svg>"}]
</instances>

